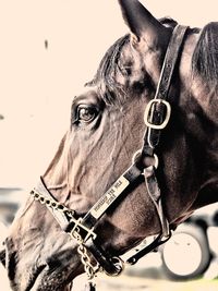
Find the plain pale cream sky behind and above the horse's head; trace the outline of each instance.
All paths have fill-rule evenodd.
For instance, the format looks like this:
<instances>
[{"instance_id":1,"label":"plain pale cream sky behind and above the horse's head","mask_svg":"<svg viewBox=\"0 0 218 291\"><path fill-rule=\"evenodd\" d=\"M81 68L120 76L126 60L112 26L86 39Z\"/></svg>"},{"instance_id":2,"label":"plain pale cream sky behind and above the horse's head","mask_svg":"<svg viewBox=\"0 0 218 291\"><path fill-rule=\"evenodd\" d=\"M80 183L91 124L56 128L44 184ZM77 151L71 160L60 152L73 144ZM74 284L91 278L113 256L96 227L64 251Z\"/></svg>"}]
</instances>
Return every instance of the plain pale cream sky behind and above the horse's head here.
<instances>
[{"instance_id":1,"label":"plain pale cream sky behind and above the horse's head","mask_svg":"<svg viewBox=\"0 0 218 291\"><path fill-rule=\"evenodd\" d=\"M217 0L142 2L191 26L218 19ZM71 98L126 32L116 0L0 0L0 186L32 185L44 173Z\"/></svg>"}]
</instances>

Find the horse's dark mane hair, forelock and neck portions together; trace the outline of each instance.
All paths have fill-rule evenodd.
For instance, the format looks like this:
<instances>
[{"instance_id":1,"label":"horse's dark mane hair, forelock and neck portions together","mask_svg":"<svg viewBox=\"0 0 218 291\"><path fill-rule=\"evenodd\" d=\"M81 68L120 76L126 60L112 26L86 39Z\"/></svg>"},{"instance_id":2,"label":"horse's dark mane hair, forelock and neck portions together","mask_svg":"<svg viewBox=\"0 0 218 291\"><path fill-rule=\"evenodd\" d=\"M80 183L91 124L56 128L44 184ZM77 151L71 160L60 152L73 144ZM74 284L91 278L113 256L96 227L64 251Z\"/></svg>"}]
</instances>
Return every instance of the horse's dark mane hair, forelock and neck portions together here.
<instances>
[{"instance_id":1,"label":"horse's dark mane hair, forelock and neck portions together","mask_svg":"<svg viewBox=\"0 0 218 291\"><path fill-rule=\"evenodd\" d=\"M164 25L174 27L178 23L170 17L159 20ZM199 33L198 28L190 28L192 33ZM130 41L130 35L119 38L105 53L97 73L88 86L98 86L102 99L107 104L122 102L123 87L116 81L122 48ZM192 57L193 76L199 74L208 85L215 85L218 80L218 23L207 24L201 32L199 39ZM126 76L128 77L128 76ZM218 86L217 86L218 87ZM122 94L121 94L122 93ZM122 99L122 100L121 100Z\"/></svg>"}]
</instances>

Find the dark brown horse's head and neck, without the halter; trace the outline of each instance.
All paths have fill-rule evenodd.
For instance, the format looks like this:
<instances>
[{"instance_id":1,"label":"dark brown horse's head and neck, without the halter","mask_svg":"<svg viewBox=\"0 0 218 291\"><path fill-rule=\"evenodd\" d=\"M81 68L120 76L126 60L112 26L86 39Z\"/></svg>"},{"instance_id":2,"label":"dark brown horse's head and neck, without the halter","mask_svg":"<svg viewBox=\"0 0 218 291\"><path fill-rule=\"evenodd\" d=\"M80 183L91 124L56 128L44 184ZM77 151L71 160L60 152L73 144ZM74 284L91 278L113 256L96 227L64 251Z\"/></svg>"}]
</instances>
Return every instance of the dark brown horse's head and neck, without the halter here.
<instances>
[{"instance_id":1,"label":"dark brown horse's head and neck, without the halter","mask_svg":"<svg viewBox=\"0 0 218 291\"><path fill-rule=\"evenodd\" d=\"M100 250L119 256L162 229L143 175L135 178L94 230L85 230L76 220L87 218L92 206L131 166L134 153L144 147L149 126L147 122L145 125L144 111L157 94L166 51L177 27L172 20L156 20L136 0L119 2L131 34L111 46L94 80L73 99L69 130L5 240L1 259L13 290L68 290L70 282L84 271L77 253L82 237L75 238L80 230L92 239L90 232L95 232ZM209 23L203 29L186 27L170 80L170 121L155 147L159 158L155 178L170 228L194 209L218 201L217 80L218 24ZM154 155L150 159L148 156L142 159L140 151L135 158L140 172L147 166L154 169ZM116 186L122 185L121 180ZM114 186L110 195L112 191ZM96 216L105 206L104 199L96 207ZM59 220L55 208L60 208L60 216L66 213L65 218L72 218L73 225L77 221L72 239L61 229L68 232L71 226L60 227L55 220L53 216ZM93 258L88 263L94 264Z\"/></svg>"}]
</instances>

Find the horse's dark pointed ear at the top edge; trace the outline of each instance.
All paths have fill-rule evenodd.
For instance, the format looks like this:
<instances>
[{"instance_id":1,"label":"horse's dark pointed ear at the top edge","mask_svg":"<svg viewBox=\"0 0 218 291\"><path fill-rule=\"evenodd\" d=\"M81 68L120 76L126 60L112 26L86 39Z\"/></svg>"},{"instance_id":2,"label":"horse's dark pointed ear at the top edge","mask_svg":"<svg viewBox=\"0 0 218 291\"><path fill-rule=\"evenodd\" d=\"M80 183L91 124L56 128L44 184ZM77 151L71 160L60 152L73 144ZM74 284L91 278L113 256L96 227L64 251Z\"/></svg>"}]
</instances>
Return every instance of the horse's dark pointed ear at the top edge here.
<instances>
[{"instance_id":1,"label":"horse's dark pointed ear at the top edge","mask_svg":"<svg viewBox=\"0 0 218 291\"><path fill-rule=\"evenodd\" d=\"M119 3L124 21L138 41L146 39L149 47L168 41L169 31L140 1L119 0Z\"/></svg>"}]
</instances>

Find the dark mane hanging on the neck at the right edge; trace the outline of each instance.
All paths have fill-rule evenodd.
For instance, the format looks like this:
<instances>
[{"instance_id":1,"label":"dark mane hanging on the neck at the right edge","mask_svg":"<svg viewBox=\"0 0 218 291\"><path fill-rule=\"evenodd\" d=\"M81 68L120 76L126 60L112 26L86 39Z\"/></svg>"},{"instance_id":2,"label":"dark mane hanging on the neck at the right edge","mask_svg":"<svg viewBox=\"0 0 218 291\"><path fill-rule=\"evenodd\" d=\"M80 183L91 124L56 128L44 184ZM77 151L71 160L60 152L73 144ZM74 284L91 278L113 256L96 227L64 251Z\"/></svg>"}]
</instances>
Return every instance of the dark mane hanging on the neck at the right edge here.
<instances>
[{"instance_id":1,"label":"dark mane hanging on the neck at the right edge","mask_svg":"<svg viewBox=\"0 0 218 291\"><path fill-rule=\"evenodd\" d=\"M218 89L218 22L202 29L192 57L192 72L193 76L201 75L204 82Z\"/></svg>"}]
</instances>

